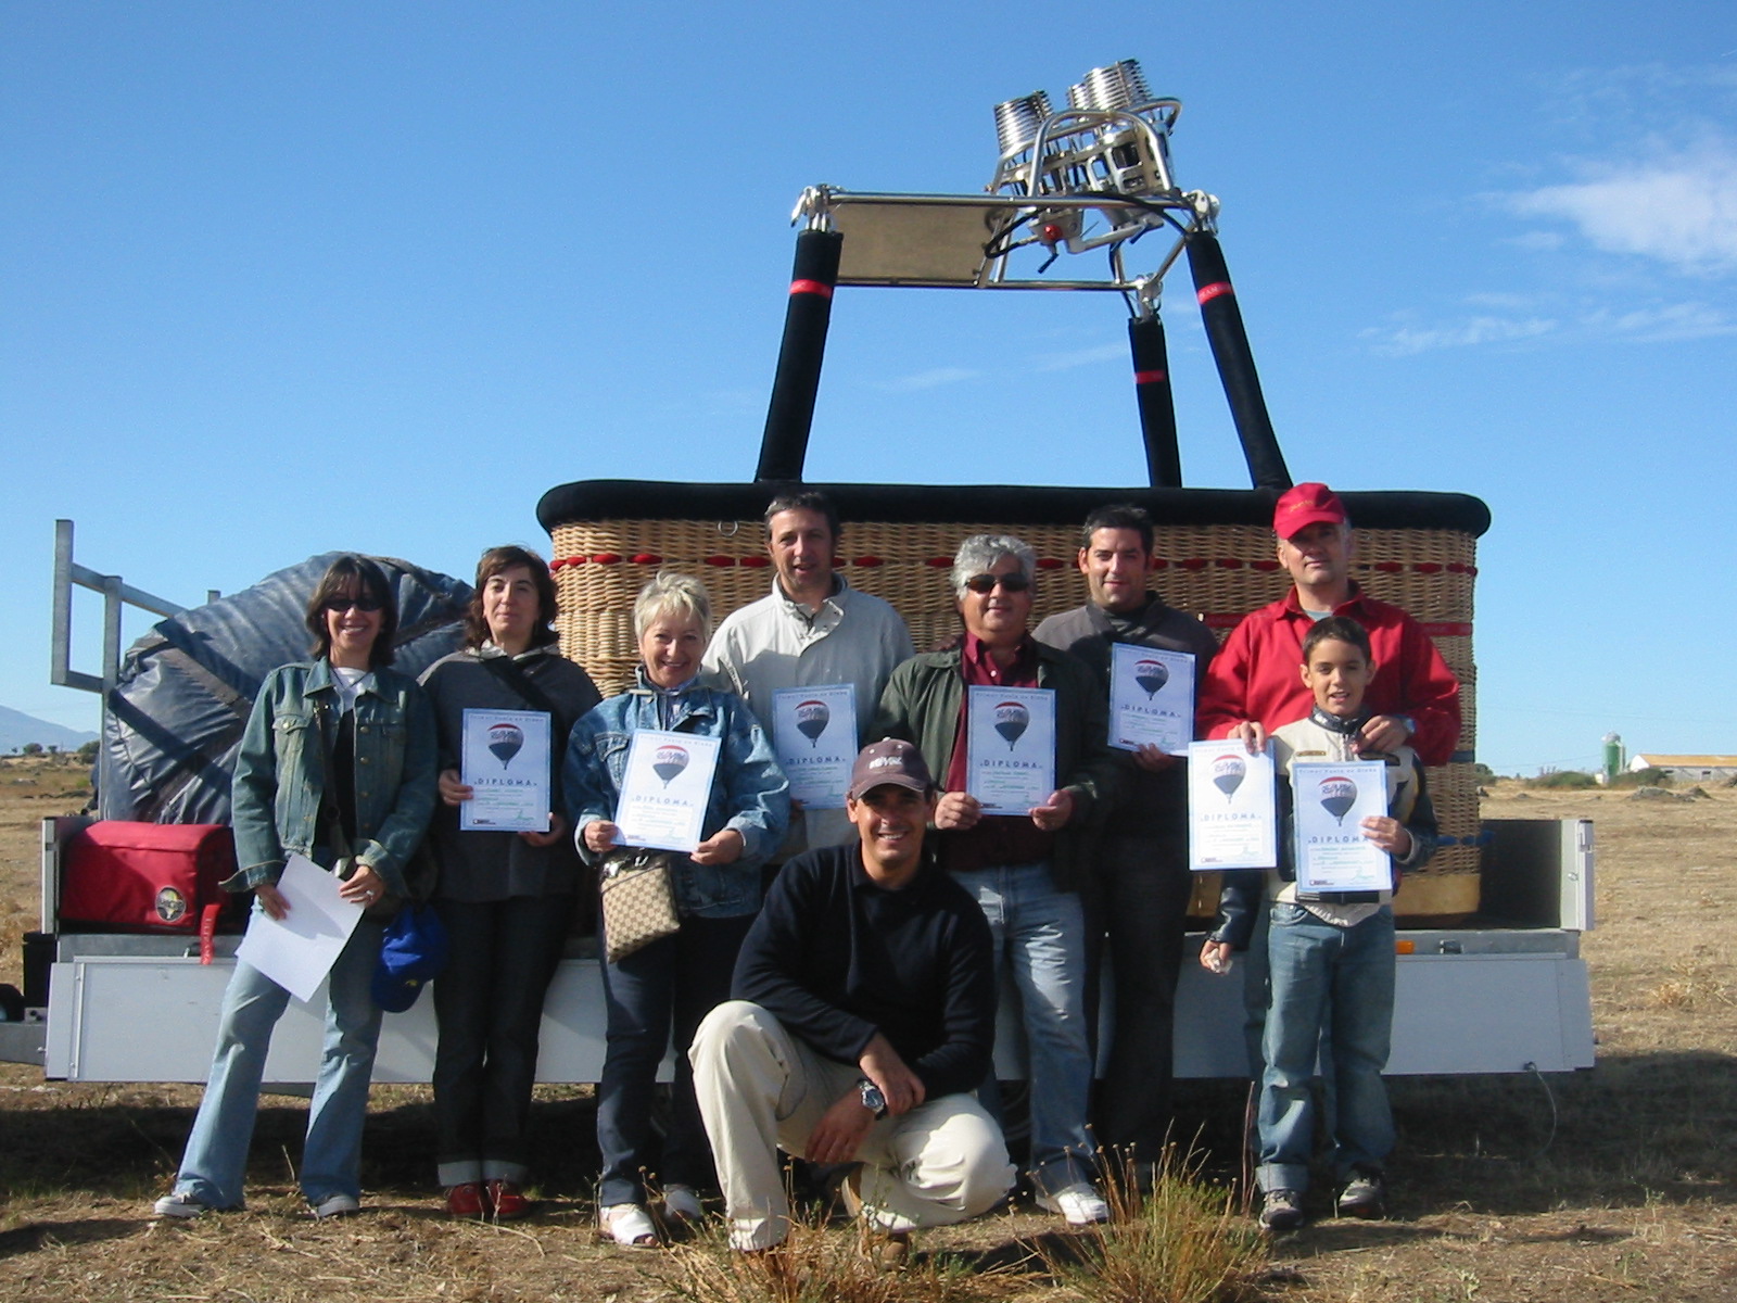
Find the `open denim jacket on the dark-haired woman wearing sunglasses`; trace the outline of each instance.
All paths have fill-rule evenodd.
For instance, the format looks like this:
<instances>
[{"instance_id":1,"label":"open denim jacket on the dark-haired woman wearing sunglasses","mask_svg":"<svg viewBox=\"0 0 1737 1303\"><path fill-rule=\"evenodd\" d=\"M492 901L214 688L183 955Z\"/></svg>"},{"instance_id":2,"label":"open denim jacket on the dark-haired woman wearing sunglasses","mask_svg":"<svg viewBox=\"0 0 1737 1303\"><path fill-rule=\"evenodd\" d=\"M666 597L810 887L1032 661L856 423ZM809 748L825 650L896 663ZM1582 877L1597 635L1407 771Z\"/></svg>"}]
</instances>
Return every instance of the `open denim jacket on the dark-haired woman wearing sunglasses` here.
<instances>
[{"instance_id":1,"label":"open denim jacket on the dark-haired woman wearing sunglasses","mask_svg":"<svg viewBox=\"0 0 1737 1303\"><path fill-rule=\"evenodd\" d=\"M241 870L228 891L276 883L288 851L313 855L327 754L337 737L332 664L280 665L266 676L234 761L229 806ZM403 893L429 815L439 752L434 711L415 679L380 667L356 697L356 844L351 851Z\"/></svg>"}]
</instances>

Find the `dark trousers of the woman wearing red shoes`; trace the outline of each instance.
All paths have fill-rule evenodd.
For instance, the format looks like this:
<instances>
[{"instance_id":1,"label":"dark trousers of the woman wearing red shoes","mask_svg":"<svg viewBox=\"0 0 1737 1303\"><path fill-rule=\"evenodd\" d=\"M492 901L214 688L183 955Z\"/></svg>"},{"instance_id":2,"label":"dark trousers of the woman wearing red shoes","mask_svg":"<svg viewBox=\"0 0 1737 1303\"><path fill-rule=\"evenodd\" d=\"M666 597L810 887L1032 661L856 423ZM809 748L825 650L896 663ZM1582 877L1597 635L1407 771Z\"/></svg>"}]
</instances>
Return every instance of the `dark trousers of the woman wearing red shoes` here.
<instances>
[{"instance_id":1,"label":"dark trousers of the woman wearing red shoes","mask_svg":"<svg viewBox=\"0 0 1737 1303\"><path fill-rule=\"evenodd\" d=\"M434 1124L441 1185L530 1176L544 995L573 896L436 900L452 961L434 980Z\"/></svg>"}]
</instances>

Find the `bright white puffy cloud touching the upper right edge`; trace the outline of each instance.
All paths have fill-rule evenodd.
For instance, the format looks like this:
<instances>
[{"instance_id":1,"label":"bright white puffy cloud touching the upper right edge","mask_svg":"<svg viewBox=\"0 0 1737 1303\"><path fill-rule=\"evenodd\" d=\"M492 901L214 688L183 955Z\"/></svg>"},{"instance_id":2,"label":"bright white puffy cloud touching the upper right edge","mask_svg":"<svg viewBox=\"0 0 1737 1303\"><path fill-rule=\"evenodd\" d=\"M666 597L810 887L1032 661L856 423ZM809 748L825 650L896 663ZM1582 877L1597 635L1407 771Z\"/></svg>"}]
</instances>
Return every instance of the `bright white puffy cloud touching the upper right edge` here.
<instances>
[{"instance_id":1,"label":"bright white puffy cloud touching the upper right edge","mask_svg":"<svg viewBox=\"0 0 1737 1303\"><path fill-rule=\"evenodd\" d=\"M1522 217L1560 219L1610 254L1638 254L1688 273L1737 271L1737 146L1707 141L1584 181L1506 196Z\"/></svg>"}]
</instances>

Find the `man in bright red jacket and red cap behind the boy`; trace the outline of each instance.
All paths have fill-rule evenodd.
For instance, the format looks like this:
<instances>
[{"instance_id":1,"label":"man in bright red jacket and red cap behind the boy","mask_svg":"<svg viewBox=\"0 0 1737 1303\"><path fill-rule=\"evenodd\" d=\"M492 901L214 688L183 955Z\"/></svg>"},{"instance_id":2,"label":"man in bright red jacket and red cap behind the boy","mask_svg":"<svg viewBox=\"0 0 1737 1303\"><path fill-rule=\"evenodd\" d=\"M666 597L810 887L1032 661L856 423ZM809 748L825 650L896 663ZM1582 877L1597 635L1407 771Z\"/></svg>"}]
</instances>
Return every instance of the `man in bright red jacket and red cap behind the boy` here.
<instances>
[{"instance_id":1,"label":"man in bright red jacket and red cap behind the boy","mask_svg":"<svg viewBox=\"0 0 1737 1303\"><path fill-rule=\"evenodd\" d=\"M1292 587L1232 629L1207 665L1197 731L1204 738L1242 737L1251 751L1266 735L1310 712L1298 674L1303 636L1315 620L1348 615L1369 631L1376 679L1365 700L1374 716L1360 751L1410 745L1424 764L1447 764L1459 742L1459 679L1435 643L1398 606L1365 596L1351 579L1351 521L1327 485L1298 485L1273 509L1278 561Z\"/></svg>"}]
</instances>

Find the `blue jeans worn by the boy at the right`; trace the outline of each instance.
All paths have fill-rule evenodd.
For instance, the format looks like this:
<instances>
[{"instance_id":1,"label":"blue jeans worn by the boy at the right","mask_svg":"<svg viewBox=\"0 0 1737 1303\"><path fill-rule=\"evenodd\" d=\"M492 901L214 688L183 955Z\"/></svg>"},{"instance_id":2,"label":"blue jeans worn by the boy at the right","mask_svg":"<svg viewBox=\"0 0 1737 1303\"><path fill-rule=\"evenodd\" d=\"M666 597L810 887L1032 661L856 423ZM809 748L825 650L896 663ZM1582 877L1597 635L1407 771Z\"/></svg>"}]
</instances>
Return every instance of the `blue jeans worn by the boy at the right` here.
<instances>
[{"instance_id":1,"label":"blue jeans worn by the boy at the right","mask_svg":"<svg viewBox=\"0 0 1737 1303\"><path fill-rule=\"evenodd\" d=\"M1263 1190L1306 1190L1315 1131L1310 1077L1331 1020L1332 1167L1379 1167L1393 1152L1393 1114L1381 1070L1393 1037L1393 910L1334 928L1301 905L1273 903L1266 933L1273 1004L1261 1051Z\"/></svg>"}]
</instances>

